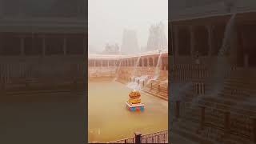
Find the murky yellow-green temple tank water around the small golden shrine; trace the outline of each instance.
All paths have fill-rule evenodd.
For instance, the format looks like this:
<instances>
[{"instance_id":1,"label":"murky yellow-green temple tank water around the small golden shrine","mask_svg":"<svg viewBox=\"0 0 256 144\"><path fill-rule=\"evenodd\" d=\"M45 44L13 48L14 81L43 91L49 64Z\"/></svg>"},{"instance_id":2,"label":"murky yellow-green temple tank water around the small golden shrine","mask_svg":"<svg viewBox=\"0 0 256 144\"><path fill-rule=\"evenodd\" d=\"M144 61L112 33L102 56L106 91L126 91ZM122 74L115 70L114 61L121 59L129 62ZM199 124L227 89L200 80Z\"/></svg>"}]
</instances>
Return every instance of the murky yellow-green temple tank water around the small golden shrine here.
<instances>
[{"instance_id":1,"label":"murky yellow-green temple tank water around the small golden shrine","mask_svg":"<svg viewBox=\"0 0 256 144\"><path fill-rule=\"evenodd\" d=\"M130 89L118 82L88 83L89 142L110 142L168 129L168 102L142 93L144 112L126 110Z\"/></svg>"}]
</instances>

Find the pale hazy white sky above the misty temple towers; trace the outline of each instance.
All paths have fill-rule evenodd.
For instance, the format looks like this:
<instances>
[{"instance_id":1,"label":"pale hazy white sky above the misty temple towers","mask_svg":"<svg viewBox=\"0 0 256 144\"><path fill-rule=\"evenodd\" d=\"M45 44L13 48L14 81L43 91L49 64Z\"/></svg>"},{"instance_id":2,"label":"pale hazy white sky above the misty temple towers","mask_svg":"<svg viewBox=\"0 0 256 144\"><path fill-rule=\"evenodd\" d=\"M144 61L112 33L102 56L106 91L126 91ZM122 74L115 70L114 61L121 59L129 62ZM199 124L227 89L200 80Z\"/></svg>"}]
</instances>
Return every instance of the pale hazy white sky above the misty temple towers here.
<instances>
[{"instance_id":1,"label":"pale hazy white sky above the misty temple towers","mask_svg":"<svg viewBox=\"0 0 256 144\"><path fill-rule=\"evenodd\" d=\"M106 43L122 44L125 28L137 31L139 46L146 46L151 24L163 22L168 34L168 0L89 0L89 45L103 50Z\"/></svg>"}]
</instances>

